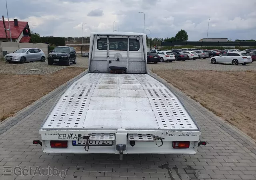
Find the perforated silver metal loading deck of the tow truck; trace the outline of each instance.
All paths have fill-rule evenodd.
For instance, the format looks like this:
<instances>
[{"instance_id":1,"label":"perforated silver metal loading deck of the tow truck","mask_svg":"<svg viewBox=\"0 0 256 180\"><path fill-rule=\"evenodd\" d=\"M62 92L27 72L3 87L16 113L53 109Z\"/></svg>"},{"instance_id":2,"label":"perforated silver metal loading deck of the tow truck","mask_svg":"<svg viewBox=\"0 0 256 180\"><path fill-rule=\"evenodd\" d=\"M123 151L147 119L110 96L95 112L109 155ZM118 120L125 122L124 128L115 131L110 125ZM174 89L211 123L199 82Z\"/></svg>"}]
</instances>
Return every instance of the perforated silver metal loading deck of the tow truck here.
<instances>
[{"instance_id":1,"label":"perforated silver metal loading deck of the tow truck","mask_svg":"<svg viewBox=\"0 0 256 180\"><path fill-rule=\"evenodd\" d=\"M42 128L198 130L175 95L153 77L100 73L73 83Z\"/></svg>"}]
</instances>

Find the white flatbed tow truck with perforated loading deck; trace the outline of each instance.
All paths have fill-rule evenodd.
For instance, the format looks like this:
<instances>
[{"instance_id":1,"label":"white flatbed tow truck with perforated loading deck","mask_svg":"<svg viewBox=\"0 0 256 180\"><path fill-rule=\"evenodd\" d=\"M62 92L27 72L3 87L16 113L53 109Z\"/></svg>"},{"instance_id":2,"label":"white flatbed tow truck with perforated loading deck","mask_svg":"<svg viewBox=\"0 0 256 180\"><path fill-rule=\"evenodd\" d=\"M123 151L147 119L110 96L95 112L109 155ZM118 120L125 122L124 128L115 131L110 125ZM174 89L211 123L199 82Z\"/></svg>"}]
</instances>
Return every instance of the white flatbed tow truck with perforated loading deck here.
<instances>
[{"instance_id":1,"label":"white flatbed tow truck with perforated loading deck","mask_svg":"<svg viewBox=\"0 0 256 180\"><path fill-rule=\"evenodd\" d=\"M200 129L147 72L146 35L96 32L88 72L60 95L40 128L46 153L194 154Z\"/></svg>"}]
</instances>

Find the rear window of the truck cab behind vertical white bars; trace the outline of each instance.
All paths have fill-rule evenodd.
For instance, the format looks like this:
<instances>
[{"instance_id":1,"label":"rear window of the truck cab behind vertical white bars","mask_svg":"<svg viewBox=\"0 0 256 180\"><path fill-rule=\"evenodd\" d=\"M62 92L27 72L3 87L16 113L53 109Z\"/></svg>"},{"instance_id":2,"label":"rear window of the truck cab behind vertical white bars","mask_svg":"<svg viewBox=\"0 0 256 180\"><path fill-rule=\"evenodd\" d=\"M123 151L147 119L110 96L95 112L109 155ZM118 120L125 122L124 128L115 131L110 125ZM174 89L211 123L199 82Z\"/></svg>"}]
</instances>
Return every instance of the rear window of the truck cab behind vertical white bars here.
<instances>
[{"instance_id":1,"label":"rear window of the truck cab behind vertical white bars","mask_svg":"<svg viewBox=\"0 0 256 180\"><path fill-rule=\"evenodd\" d=\"M97 48L99 50L108 49L107 38L100 38L97 40ZM123 38L109 38L110 51L127 51L128 39ZM140 42L136 39L129 39L129 51L138 51L140 49Z\"/></svg>"}]
</instances>

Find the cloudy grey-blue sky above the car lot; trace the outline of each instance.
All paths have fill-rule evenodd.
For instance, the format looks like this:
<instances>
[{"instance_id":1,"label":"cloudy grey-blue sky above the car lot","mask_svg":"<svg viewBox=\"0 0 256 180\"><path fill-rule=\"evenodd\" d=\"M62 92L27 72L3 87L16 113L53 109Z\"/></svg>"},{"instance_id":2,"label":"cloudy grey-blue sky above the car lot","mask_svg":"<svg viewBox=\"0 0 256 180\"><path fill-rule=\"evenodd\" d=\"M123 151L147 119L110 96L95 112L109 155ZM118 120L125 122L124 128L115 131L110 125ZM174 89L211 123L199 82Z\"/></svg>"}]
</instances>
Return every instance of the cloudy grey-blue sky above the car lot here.
<instances>
[{"instance_id":1,"label":"cloudy grey-blue sky above the car lot","mask_svg":"<svg viewBox=\"0 0 256 180\"><path fill-rule=\"evenodd\" d=\"M91 32L143 32L151 37L175 36L183 29L188 40L256 39L256 0L7 0L9 18L28 21L41 36L84 36ZM5 0L1 15L7 17ZM6 18L7 19L7 18ZM149 35L149 31L145 31Z\"/></svg>"}]
</instances>

